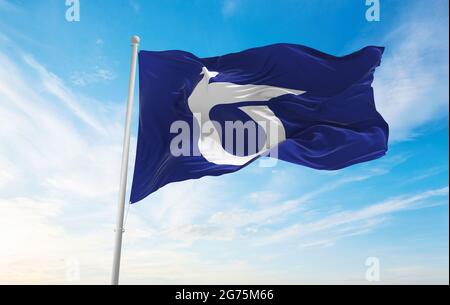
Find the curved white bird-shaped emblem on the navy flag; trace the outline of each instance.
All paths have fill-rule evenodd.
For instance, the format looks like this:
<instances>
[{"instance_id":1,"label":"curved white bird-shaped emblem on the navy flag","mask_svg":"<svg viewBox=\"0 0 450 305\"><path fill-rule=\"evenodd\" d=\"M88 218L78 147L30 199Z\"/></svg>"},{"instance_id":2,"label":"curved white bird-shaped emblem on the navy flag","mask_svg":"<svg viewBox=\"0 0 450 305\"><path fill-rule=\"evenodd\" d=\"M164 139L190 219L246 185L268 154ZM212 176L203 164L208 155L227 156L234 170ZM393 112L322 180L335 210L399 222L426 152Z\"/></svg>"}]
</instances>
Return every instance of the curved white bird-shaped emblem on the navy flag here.
<instances>
[{"instance_id":1,"label":"curved white bird-shaped emblem on the navy flag","mask_svg":"<svg viewBox=\"0 0 450 305\"><path fill-rule=\"evenodd\" d=\"M221 144L221 136L210 119L210 111L214 106L220 104L234 104L240 102L269 101L275 97L285 94L300 95L305 91L285 89L265 85L237 85L233 83L209 83L210 79L217 76L218 72L208 71L203 67L201 75L203 79L197 84L188 99L189 108L201 130L198 147L202 156L208 162L220 165L242 166L255 157L262 155L286 139L286 132L281 121L267 106L242 106L244 111L255 122L268 122L268 125L275 126L276 132L268 132L267 125L261 125L266 133L266 143L263 148L255 154L249 156L235 156L227 152Z\"/></svg>"}]
</instances>

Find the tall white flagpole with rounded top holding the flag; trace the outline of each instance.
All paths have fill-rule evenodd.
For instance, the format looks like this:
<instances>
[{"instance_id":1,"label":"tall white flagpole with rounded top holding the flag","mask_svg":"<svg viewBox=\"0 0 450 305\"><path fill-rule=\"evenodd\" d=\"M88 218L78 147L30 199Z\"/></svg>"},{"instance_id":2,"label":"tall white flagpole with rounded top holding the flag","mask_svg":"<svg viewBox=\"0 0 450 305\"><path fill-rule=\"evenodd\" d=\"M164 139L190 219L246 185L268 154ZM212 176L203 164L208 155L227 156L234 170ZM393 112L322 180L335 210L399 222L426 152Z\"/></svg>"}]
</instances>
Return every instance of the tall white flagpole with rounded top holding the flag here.
<instances>
[{"instance_id":1,"label":"tall white flagpole with rounded top holding the flag","mask_svg":"<svg viewBox=\"0 0 450 305\"><path fill-rule=\"evenodd\" d=\"M132 53L131 53L130 83L128 87L127 117L125 121L125 134L123 139L122 169L120 174L119 209L117 213L116 242L114 246L114 262L111 279L112 285L119 285L120 256L122 253L122 237L124 233L123 219L125 214L125 195L127 189L128 157L130 153L131 116L133 114L134 87L136 82L136 64L137 64L139 43L140 38L138 36L133 36L131 38Z\"/></svg>"}]
</instances>

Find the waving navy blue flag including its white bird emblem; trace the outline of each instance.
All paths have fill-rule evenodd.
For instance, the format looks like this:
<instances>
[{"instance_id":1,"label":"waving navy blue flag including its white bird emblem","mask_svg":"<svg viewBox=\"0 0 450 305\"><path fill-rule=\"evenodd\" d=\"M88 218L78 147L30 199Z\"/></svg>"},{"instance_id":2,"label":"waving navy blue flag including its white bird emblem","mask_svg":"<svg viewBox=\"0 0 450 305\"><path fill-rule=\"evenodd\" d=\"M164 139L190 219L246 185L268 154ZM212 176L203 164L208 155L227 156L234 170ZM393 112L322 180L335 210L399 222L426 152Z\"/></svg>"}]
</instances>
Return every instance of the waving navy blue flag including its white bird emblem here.
<instances>
[{"instance_id":1,"label":"waving navy blue flag including its white bird emblem","mask_svg":"<svg viewBox=\"0 0 450 305\"><path fill-rule=\"evenodd\" d=\"M166 184L235 172L266 155L319 170L382 157L389 127L371 85L383 51L335 57L292 44L211 58L141 51L131 203ZM255 122L257 132L242 133L239 147L236 131L227 141L230 122Z\"/></svg>"}]
</instances>

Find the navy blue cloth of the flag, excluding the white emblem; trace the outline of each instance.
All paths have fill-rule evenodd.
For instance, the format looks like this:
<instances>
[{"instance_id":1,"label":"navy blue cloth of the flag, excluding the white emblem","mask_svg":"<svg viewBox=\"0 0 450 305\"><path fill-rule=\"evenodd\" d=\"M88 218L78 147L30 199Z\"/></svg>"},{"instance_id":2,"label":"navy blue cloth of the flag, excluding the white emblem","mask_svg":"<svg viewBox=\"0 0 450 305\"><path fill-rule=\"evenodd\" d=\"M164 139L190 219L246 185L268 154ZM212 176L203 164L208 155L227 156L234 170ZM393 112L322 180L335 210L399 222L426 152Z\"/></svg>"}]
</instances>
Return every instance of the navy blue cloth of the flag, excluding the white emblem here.
<instances>
[{"instance_id":1,"label":"navy blue cloth of the flag, excluding the white emblem","mask_svg":"<svg viewBox=\"0 0 450 305\"><path fill-rule=\"evenodd\" d=\"M254 102L267 105L284 125L287 140L278 146L278 159L337 170L385 155L389 127L376 111L371 87L383 51L366 47L335 57L300 45L276 44L212 58L183 51L140 52L139 135L131 202L171 182L219 176L244 167L170 153L176 136L170 133L174 121L186 121L194 130L187 100L202 79L204 66L219 72L210 82L306 91L277 97L276 102ZM219 123L245 120L238 106L217 106L211 119ZM198 136L191 135L192 151L198 150Z\"/></svg>"}]
</instances>

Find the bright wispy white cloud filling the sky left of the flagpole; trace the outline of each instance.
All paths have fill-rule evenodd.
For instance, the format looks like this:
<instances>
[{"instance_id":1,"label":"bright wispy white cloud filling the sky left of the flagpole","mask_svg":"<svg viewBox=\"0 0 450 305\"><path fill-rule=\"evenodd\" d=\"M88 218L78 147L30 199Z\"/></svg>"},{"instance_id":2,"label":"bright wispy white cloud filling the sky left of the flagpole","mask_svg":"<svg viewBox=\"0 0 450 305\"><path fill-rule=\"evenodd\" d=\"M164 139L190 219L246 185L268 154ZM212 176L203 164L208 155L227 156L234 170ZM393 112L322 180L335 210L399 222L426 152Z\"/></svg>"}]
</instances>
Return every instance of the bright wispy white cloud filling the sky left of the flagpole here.
<instances>
[{"instance_id":1,"label":"bright wispy white cloud filling the sky left of the flagpole","mask_svg":"<svg viewBox=\"0 0 450 305\"><path fill-rule=\"evenodd\" d=\"M64 283L72 256L104 278L122 107L73 93L36 59L14 53L0 48L0 282Z\"/></svg>"}]
</instances>

